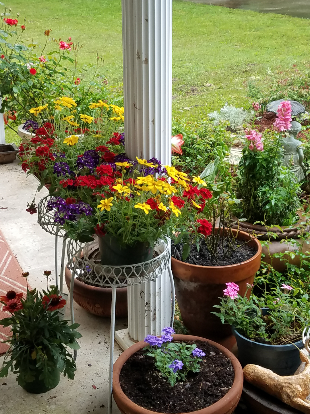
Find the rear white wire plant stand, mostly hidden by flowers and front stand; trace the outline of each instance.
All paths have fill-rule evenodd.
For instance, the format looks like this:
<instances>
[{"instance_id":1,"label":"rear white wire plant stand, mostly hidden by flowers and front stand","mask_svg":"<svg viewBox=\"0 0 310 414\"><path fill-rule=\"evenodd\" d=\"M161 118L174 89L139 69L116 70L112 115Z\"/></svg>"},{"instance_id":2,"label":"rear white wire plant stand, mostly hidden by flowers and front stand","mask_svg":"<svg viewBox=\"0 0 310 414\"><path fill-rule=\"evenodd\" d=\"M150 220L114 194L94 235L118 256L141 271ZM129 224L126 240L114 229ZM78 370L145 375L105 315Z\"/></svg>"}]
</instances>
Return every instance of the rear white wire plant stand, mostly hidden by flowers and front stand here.
<instances>
[{"instance_id":1,"label":"rear white wire plant stand, mostly hidden by flowers and front stand","mask_svg":"<svg viewBox=\"0 0 310 414\"><path fill-rule=\"evenodd\" d=\"M64 256L66 253L66 232L62 227L55 223L54 221L54 212L48 210L48 200L50 196L43 197L43 199L38 204L38 224L42 227L43 230L55 236L55 284L59 286L59 291L62 292L63 289L63 279L64 279ZM57 241L58 237L61 237L62 240L62 255L60 262L60 283L58 284L58 265L57 265ZM71 315L72 316L72 315Z\"/></svg>"}]
</instances>

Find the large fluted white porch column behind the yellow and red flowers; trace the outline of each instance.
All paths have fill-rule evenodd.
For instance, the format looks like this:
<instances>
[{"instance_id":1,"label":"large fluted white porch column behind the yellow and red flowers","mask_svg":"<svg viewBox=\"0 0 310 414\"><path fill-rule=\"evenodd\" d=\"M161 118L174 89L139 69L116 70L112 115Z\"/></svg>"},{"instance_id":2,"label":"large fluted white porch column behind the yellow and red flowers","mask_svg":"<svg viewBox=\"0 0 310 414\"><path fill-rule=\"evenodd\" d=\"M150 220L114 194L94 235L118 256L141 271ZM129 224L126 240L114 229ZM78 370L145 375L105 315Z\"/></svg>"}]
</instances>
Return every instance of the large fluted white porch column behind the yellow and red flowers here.
<instances>
[{"instance_id":1,"label":"large fluted white porch column behind the yellow and red flowers","mask_svg":"<svg viewBox=\"0 0 310 414\"><path fill-rule=\"evenodd\" d=\"M171 165L172 0L122 0L125 150ZM128 333L135 341L170 324L168 272L129 287Z\"/></svg>"}]
</instances>

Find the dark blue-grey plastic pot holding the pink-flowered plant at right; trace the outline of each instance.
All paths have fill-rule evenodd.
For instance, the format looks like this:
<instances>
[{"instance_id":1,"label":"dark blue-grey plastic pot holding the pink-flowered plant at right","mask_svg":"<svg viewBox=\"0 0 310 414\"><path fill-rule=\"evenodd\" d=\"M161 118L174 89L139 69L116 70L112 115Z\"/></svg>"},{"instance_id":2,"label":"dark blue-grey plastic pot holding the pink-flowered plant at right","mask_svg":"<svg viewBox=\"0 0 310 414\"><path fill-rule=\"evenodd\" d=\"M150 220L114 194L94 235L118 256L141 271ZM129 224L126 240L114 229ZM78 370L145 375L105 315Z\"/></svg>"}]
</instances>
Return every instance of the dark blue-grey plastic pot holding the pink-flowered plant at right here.
<instances>
[{"instance_id":1,"label":"dark blue-grey plastic pot holding the pink-flowered plant at right","mask_svg":"<svg viewBox=\"0 0 310 414\"><path fill-rule=\"evenodd\" d=\"M282 376L293 375L300 366L299 349L303 348L303 341L289 345L267 345L251 341L243 337L232 327L238 346L238 359L241 366L248 363L271 369ZM296 348L297 347L297 348Z\"/></svg>"}]
</instances>

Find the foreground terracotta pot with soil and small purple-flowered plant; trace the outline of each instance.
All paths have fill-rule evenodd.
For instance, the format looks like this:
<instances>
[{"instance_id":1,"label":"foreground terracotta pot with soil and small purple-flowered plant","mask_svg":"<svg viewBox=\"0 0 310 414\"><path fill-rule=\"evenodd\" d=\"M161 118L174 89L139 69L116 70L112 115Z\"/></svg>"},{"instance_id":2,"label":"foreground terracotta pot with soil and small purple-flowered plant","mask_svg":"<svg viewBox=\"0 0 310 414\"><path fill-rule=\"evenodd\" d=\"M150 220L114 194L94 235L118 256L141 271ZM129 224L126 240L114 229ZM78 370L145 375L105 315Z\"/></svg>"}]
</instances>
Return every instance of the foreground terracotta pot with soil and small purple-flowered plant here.
<instances>
[{"instance_id":1,"label":"foreground terracotta pot with soil and small purple-flowered plant","mask_svg":"<svg viewBox=\"0 0 310 414\"><path fill-rule=\"evenodd\" d=\"M231 414L241 397L236 357L208 339L148 335L114 363L113 397L122 413ZM147 343L147 346L145 346Z\"/></svg>"}]
</instances>

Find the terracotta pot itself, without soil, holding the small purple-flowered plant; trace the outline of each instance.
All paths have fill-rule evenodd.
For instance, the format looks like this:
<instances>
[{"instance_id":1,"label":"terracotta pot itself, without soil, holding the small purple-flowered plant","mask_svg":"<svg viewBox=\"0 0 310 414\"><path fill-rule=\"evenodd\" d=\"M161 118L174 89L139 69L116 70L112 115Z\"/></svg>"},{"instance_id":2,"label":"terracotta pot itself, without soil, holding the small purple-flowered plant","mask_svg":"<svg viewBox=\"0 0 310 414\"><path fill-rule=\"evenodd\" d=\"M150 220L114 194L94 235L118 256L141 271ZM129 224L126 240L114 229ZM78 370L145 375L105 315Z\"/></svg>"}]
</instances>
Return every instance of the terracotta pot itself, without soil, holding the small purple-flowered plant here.
<instances>
[{"instance_id":1,"label":"terracotta pot itself, without soil, holding the small purple-flowered plant","mask_svg":"<svg viewBox=\"0 0 310 414\"><path fill-rule=\"evenodd\" d=\"M243 371L238 359L231 354L231 352L215 342L212 342L205 338L200 338L191 335L173 335L174 341L186 342L186 341L204 341L209 342L211 345L217 347L227 358L231 360L231 364L235 371L235 379L231 389L217 401L215 404L210 405L202 410L194 411L195 414L231 414L236 408L242 392L243 387ZM152 414L154 411L147 410L139 405L135 404L122 391L119 384L119 374L122 370L124 363L129 359L131 355L140 349L145 347L145 342L140 341L137 344L132 345L126 349L121 356L119 356L114 363L113 368L113 397L114 401L122 414ZM191 414L191 413L189 413Z\"/></svg>"}]
</instances>

